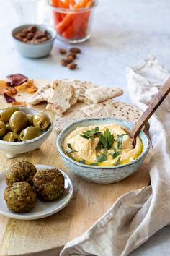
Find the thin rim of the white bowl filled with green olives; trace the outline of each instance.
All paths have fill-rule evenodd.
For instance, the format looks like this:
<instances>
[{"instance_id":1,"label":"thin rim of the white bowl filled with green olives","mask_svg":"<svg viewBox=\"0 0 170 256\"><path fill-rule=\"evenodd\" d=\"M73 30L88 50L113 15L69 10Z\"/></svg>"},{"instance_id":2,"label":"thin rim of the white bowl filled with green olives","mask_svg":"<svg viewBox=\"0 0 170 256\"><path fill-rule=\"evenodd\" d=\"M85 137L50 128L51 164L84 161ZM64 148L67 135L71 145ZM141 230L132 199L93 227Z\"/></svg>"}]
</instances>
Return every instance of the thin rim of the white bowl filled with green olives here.
<instances>
[{"instance_id":1,"label":"thin rim of the white bowl filled with green olives","mask_svg":"<svg viewBox=\"0 0 170 256\"><path fill-rule=\"evenodd\" d=\"M42 111L40 110L36 110L34 108L28 108L26 106L16 106L17 108L21 108L21 109L28 109L28 110L32 110L32 111L35 111L35 112L40 112L40 113L43 113ZM6 107L5 107L6 108ZM5 108L1 108L1 109L5 109ZM1 110L0 109L0 110ZM48 116L49 117L49 116ZM50 117L49 117L50 119ZM1 145L12 145L12 146L20 146L20 145L26 145L26 144L31 144L31 143L34 143L38 140L41 140L42 137L45 137L45 135L48 135L50 132L52 132L53 130L53 121L50 119L50 126L48 127L47 131L45 131L44 133L42 133L42 135L38 136L38 137L35 137L31 140L24 140L24 141L20 141L20 142L8 142L8 141L4 141L4 140L0 140L0 144Z\"/></svg>"}]
</instances>

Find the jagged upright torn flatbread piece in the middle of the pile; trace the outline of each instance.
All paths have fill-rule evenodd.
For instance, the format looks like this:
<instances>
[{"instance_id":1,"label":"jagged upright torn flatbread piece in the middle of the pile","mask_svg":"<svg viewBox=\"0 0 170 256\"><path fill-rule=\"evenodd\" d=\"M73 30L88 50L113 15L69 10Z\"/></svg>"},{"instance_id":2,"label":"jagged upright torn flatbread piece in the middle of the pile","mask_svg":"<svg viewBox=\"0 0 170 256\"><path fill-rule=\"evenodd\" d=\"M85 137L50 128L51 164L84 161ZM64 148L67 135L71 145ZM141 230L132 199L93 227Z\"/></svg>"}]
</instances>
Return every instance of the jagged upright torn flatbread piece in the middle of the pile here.
<instances>
[{"instance_id":1,"label":"jagged upright torn flatbread piece in the middle of the pile","mask_svg":"<svg viewBox=\"0 0 170 256\"><path fill-rule=\"evenodd\" d=\"M46 109L50 109L57 115L62 115L64 112L76 104L77 99L75 89L69 80L54 80L51 83L52 94L48 98Z\"/></svg>"}]
</instances>

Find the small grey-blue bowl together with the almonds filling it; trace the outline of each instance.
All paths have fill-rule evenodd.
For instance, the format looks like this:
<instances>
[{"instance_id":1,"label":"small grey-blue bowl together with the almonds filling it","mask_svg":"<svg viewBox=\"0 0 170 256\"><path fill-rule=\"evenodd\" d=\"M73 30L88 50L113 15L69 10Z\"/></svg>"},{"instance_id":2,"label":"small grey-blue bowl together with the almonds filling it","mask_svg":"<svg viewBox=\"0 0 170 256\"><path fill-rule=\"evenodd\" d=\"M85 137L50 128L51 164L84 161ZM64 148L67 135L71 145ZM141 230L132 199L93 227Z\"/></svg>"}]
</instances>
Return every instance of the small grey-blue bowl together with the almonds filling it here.
<instances>
[{"instance_id":1,"label":"small grey-blue bowl together with the almonds filling it","mask_svg":"<svg viewBox=\"0 0 170 256\"><path fill-rule=\"evenodd\" d=\"M14 45L19 54L27 58L48 56L56 37L55 30L45 25L21 25L12 30Z\"/></svg>"}]
</instances>

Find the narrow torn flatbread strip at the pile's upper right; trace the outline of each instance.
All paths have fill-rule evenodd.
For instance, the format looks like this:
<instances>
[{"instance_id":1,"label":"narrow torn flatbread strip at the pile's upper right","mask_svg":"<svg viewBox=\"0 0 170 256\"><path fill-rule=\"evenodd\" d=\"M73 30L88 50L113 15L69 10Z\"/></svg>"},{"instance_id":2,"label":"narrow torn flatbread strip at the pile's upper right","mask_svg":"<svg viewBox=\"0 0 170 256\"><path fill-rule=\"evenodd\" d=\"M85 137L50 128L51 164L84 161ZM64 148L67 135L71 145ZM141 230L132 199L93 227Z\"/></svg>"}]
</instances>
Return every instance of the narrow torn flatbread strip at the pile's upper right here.
<instances>
[{"instance_id":1,"label":"narrow torn flatbread strip at the pile's upper right","mask_svg":"<svg viewBox=\"0 0 170 256\"><path fill-rule=\"evenodd\" d=\"M117 87L96 87L85 90L84 97L87 103L100 103L123 94L123 90Z\"/></svg>"}]
</instances>

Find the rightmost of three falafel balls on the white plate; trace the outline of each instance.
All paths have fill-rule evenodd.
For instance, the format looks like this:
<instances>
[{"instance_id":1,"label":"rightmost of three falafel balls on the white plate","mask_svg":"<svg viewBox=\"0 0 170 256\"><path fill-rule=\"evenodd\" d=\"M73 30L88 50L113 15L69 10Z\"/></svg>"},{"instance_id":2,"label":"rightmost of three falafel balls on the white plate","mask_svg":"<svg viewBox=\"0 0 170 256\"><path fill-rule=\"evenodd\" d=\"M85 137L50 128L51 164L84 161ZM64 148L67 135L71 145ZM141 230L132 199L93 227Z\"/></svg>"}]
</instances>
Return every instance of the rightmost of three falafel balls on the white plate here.
<instances>
[{"instance_id":1,"label":"rightmost of three falafel balls on the white plate","mask_svg":"<svg viewBox=\"0 0 170 256\"><path fill-rule=\"evenodd\" d=\"M63 195L64 176L56 168L37 171L33 178L37 196L44 201L53 201Z\"/></svg>"}]
</instances>

